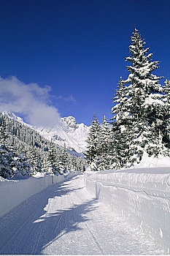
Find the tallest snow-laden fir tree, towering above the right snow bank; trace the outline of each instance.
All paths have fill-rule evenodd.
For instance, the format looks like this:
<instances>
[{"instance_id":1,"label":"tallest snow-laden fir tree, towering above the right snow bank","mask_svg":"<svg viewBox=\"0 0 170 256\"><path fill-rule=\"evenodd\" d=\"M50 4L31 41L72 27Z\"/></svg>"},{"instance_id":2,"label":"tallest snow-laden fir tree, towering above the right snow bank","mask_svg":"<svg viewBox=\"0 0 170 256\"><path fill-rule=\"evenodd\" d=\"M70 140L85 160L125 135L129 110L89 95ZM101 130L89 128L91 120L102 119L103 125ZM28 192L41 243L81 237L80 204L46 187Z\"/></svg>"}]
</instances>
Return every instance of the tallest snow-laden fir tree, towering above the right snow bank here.
<instances>
[{"instance_id":1,"label":"tallest snow-laden fir tree, towering above the right snow bank","mask_svg":"<svg viewBox=\"0 0 170 256\"><path fill-rule=\"evenodd\" d=\"M112 108L115 132L120 133L117 142L125 140L120 151L121 154L124 152L123 157L118 150L116 153L120 161L126 155L126 166L140 162L144 151L150 156L167 154L169 143L163 128L166 108L163 102L163 89L159 83L162 77L152 74L158 69L159 61L152 61L152 53L148 54L150 49L144 48L144 39L137 29L131 41L131 55L126 58L126 61L131 62L127 67L130 74L127 80L120 79L114 100L117 105Z\"/></svg>"}]
</instances>

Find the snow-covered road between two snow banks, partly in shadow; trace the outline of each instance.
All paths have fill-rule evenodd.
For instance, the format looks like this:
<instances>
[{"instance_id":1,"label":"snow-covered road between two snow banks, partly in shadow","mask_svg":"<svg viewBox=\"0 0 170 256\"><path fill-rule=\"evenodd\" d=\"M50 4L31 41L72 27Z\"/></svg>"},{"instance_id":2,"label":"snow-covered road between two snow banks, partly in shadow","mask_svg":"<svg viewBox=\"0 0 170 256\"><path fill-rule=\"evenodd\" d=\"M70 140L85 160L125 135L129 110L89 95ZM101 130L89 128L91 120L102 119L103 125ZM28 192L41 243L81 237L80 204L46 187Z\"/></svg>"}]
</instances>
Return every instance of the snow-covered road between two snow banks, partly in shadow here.
<instances>
[{"instance_id":1,"label":"snow-covered road between two snow banks, partly in shadow","mask_svg":"<svg viewBox=\"0 0 170 256\"><path fill-rule=\"evenodd\" d=\"M93 198L84 177L47 187L0 218L1 255L166 254L114 209Z\"/></svg>"}]
</instances>

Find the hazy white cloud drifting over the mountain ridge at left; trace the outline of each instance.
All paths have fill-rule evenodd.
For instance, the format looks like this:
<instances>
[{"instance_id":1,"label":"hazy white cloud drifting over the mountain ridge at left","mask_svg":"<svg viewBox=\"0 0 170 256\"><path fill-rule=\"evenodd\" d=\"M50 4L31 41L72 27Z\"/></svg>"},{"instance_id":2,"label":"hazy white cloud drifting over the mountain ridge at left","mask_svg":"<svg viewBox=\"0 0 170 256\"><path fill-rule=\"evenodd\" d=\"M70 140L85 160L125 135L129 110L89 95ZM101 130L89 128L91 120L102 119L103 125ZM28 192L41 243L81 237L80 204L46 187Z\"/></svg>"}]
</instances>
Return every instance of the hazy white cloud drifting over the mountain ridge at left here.
<instances>
[{"instance_id":1,"label":"hazy white cloud drifting over the mountain ridge at left","mask_svg":"<svg viewBox=\"0 0 170 256\"><path fill-rule=\"evenodd\" d=\"M57 108L50 105L50 86L25 84L15 77L0 77L0 112L7 110L24 116L29 124L54 127L60 123Z\"/></svg>"}]
</instances>

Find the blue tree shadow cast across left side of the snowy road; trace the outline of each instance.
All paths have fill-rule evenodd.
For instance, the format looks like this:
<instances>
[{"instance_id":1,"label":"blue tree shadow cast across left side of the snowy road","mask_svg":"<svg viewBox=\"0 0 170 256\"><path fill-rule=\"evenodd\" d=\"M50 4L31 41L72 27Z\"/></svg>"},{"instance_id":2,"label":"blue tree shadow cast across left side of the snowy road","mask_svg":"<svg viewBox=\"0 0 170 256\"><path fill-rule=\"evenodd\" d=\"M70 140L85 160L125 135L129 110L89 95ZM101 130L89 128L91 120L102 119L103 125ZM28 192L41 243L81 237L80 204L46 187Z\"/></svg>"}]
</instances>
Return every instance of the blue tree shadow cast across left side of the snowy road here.
<instances>
[{"instance_id":1,"label":"blue tree shadow cast across left side of the snowy road","mask_svg":"<svg viewBox=\"0 0 170 256\"><path fill-rule=\"evenodd\" d=\"M0 218L1 255L42 254L42 249L61 236L81 229L78 225L89 220L85 214L96 208L96 199L82 204L72 201L69 208L56 208L55 212L47 214L51 199L82 189L68 188L68 182L47 187Z\"/></svg>"}]
</instances>

